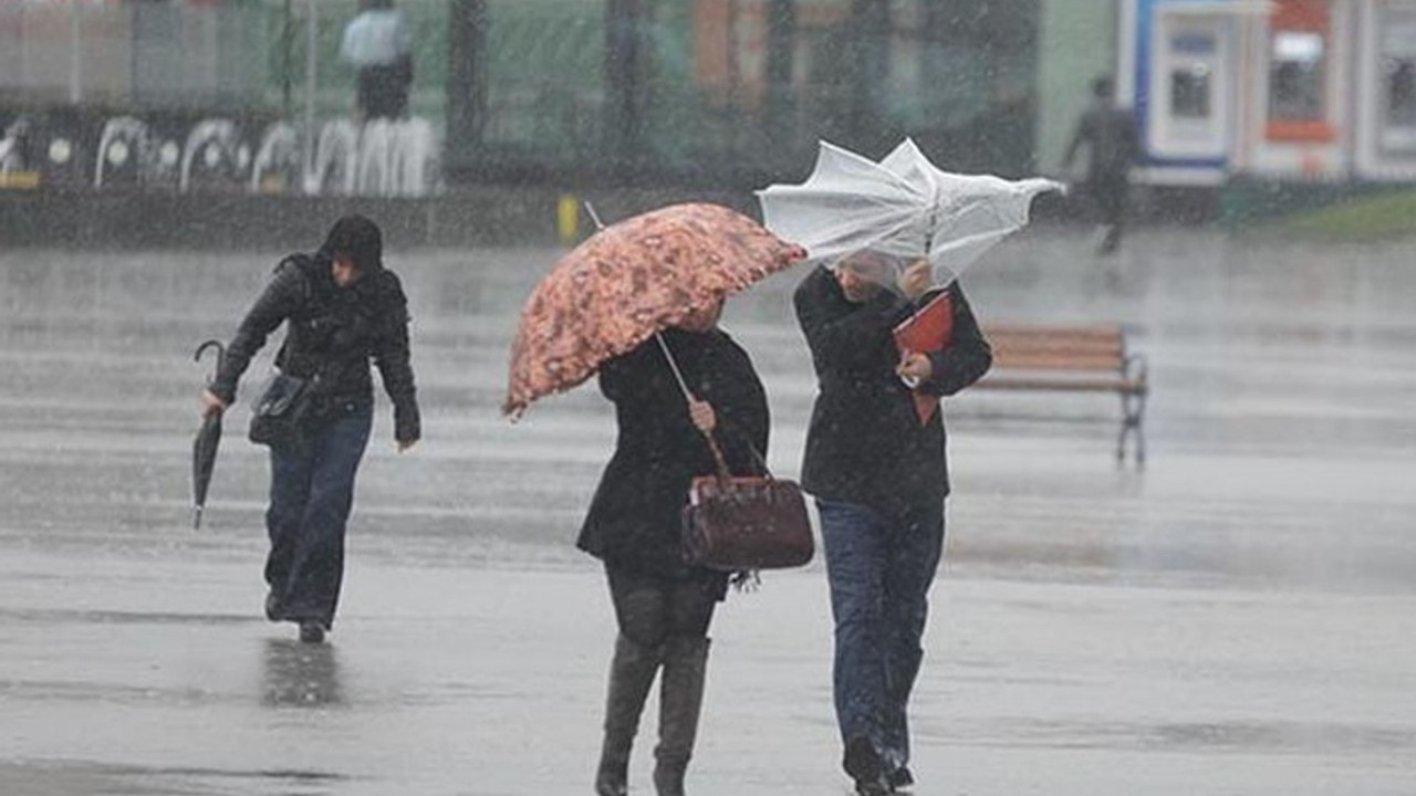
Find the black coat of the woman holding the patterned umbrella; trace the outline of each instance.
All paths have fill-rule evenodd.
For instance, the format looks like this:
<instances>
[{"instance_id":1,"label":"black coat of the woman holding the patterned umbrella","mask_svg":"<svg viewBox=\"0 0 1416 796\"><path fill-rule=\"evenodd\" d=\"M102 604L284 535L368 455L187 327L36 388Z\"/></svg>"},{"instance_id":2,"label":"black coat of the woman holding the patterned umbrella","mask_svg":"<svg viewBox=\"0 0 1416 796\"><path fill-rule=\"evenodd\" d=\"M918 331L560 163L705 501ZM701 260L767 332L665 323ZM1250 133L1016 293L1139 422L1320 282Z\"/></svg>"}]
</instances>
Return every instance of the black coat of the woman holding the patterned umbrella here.
<instances>
[{"instance_id":1,"label":"black coat of the woman holding the patterned umbrella","mask_svg":"<svg viewBox=\"0 0 1416 796\"><path fill-rule=\"evenodd\" d=\"M760 473L767 455L767 397L752 360L728 334L670 329L664 339L688 388L712 405L714 438L733 474ZM619 439L581 528L581 550L612 567L683 576L680 533L694 476L715 472L712 453L654 339L600 367Z\"/></svg>"}]
</instances>

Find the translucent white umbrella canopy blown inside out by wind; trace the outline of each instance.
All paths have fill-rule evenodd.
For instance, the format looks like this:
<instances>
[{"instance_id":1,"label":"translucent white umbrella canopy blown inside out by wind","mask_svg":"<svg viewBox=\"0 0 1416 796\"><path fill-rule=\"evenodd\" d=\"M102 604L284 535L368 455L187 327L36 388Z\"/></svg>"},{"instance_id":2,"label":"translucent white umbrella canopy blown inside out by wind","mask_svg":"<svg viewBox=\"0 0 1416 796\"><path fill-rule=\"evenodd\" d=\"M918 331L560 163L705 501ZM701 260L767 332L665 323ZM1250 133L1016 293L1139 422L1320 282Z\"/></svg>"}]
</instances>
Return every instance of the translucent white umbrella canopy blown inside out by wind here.
<instances>
[{"instance_id":1,"label":"translucent white umbrella canopy blown inside out by wind","mask_svg":"<svg viewBox=\"0 0 1416 796\"><path fill-rule=\"evenodd\" d=\"M927 256L943 286L1027 225L1035 195L1065 190L1052 180L942 171L905 139L879 163L821 142L806 183L769 186L758 198L767 229L801 244L814 261L861 251L899 265Z\"/></svg>"}]
</instances>

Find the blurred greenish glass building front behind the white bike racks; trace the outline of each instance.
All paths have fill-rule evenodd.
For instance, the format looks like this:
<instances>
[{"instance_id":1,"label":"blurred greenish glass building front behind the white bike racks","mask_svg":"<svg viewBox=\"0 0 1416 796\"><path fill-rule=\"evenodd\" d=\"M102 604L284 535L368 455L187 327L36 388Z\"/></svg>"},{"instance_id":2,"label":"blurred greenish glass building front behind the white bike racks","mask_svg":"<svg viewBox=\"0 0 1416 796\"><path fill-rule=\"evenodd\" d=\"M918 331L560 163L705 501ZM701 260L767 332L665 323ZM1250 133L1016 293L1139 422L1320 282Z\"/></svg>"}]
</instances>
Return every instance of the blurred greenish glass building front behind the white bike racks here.
<instances>
[{"instance_id":1,"label":"blurred greenish glass building front behind the white bike racks","mask_svg":"<svg viewBox=\"0 0 1416 796\"><path fill-rule=\"evenodd\" d=\"M399 0L412 116L463 181L741 184L816 142L1032 166L1039 0ZM57 105L285 120L354 109L357 0L0 3L0 122Z\"/></svg>"}]
</instances>

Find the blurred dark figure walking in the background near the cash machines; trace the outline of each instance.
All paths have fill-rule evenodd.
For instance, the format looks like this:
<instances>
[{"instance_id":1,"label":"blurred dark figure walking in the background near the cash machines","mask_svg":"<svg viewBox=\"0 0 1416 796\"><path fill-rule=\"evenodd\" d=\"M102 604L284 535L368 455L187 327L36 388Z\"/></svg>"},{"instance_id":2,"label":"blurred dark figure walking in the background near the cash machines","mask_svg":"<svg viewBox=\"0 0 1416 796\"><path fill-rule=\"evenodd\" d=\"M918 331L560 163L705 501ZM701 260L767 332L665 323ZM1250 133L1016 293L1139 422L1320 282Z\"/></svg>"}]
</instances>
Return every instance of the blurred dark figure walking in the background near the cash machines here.
<instances>
[{"instance_id":1,"label":"blurred dark figure walking in the background near the cash machines","mask_svg":"<svg viewBox=\"0 0 1416 796\"><path fill-rule=\"evenodd\" d=\"M1114 252L1121 242L1131 164L1140 146L1136 118L1129 109L1116 106L1114 93L1110 78L1092 81L1092 105L1078 120L1076 132L1062 157L1062 167L1070 170L1078 150L1082 146L1087 147L1083 194L1106 227L1106 237L1097 252L1103 255Z\"/></svg>"}]
</instances>

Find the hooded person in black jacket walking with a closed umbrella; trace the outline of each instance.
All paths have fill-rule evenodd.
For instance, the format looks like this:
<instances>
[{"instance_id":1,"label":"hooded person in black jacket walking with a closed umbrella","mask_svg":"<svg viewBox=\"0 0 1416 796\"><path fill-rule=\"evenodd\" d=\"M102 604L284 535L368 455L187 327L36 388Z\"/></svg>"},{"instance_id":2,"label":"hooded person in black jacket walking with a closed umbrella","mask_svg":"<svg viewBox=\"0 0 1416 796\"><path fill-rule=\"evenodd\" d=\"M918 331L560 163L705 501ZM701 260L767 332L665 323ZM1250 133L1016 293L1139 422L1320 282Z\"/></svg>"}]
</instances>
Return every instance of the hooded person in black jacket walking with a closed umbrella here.
<instances>
[{"instance_id":1,"label":"hooded person in black jacket walking with a closed umbrella","mask_svg":"<svg viewBox=\"0 0 1416 796\"><path fill-rule=\"evenodd\" d=\"M384 268L378 225L346 215L317 252L280 261L202 392L204 416L235 401L251 358L282 323L276 367L307 380L309 409L299 438L270 448L265 612L272 622L297 623L302 642L319 643L334 625L354 476L374 418L371 360L394 404L399 452L421 436L408 299Z\"/></svg>"}]
</instances>

